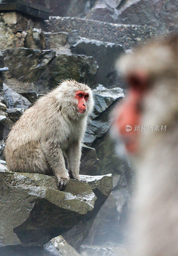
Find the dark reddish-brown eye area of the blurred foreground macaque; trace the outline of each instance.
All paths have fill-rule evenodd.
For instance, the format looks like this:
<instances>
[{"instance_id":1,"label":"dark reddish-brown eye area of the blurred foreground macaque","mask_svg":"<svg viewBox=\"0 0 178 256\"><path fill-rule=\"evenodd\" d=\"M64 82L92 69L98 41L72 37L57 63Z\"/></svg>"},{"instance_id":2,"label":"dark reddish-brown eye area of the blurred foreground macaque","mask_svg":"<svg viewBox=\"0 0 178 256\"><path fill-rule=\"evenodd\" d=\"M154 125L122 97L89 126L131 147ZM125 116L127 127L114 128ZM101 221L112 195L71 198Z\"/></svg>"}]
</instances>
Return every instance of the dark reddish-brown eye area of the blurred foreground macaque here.
<instances>
[{"instance_id":1,"label":"dark reddish-brown eye area of the blurred foreground macaque","mask_svg":"<svg viewBox=\"0 0 178 256\"><path fill-rule=\"evenodd\" d=\"M148 78L148 72L140 68L129 74L127 81L130 88L145 91L148 87Z\"/></svg>"}]
</instances>

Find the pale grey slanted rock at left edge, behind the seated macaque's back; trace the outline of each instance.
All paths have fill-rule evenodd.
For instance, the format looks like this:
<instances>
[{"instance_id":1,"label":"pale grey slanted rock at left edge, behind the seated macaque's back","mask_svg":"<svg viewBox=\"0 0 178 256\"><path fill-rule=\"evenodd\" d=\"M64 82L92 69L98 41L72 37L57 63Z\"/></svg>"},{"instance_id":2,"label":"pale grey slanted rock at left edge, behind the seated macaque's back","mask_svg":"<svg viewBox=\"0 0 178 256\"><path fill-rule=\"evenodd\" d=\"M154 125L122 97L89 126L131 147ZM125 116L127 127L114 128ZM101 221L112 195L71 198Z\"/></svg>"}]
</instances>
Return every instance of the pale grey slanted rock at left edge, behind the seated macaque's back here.
<instances>
[{"instance_id":1,"label":"pale grey slanted rock at left edge, behind the seated macaque's back","mask_svg":"<svg viewBox=\"0 0 178 256\"><path fill-rule=\"evenodd\" d=\"M30 105L30 102L25 97L13 91L6 84L3 84L3 91L0 92L0 96L8 108L27 109Z\"/></svg>"}]
</instances>

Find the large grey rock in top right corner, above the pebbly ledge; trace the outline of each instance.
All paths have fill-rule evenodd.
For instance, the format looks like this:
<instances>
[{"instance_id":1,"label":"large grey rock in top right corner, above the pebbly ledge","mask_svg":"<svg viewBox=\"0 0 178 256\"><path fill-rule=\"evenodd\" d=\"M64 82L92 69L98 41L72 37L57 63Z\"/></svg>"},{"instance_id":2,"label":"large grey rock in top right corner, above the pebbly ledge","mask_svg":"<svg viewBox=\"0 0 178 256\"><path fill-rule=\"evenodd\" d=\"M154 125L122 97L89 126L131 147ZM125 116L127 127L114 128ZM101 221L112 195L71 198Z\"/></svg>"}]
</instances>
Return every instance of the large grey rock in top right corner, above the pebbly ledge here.
<instances>
[{"instance_id":1,"label":"large grey rock in top right corner, above the pebbly ledge","mask_svg":"<svg viewBox=\"0 0 178 256\"><path fill-rule=\"evenodd\" d=\"M118 24L147 24L165 30L176 25L176 7L174 0L98 0L86 17Z\"/></svg>"}]
</instances>

